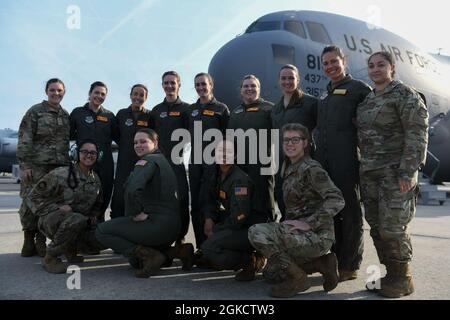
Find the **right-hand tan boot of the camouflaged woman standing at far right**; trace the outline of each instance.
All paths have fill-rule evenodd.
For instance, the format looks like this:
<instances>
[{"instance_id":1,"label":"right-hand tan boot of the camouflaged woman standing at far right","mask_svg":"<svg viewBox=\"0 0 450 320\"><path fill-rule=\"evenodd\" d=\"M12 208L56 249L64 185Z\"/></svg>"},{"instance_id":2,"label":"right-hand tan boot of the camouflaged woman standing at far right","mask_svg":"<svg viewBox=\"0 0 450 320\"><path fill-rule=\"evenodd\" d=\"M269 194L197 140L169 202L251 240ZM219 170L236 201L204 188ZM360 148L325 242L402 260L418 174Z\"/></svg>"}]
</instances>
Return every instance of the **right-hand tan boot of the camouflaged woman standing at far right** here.
<instances>
[{"instance_id":1,"label":"right-hand tan boot of the camouflaged woman standing at far right","mask_svg":"<svg viewBox=\"0 0 450 320\"><path fill-rule=\"evenodd\" d=\"M386 277L381 279L381 289L377 290L378 294L387 298L400 298L414 292L414 283L408 263L387 263L386 272Z\"/></svg>"}]
</instances>

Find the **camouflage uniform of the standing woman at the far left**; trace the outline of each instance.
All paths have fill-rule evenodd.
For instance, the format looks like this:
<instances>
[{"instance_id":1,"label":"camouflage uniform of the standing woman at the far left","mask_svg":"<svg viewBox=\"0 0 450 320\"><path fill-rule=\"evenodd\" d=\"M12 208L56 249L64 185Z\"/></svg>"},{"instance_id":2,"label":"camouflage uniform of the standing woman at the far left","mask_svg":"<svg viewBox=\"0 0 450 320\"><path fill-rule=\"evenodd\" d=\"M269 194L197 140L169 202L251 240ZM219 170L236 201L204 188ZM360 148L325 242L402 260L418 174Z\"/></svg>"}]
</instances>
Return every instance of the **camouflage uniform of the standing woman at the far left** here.
<instances>
[{"instance_id":1,"label":"camouflage uniform of the standing woman at the far left","mask_svg":"<svg viewBox=\"0 0 450 320\"><path fill-rule=\"evenodd\" d=\"M20 222L24 231L37 231L38 217L26 206L25 197L45 174L69 163L68 112L47 101L32 106L20 123L17 159L20 170L32 170L31 183L22 180L20 185Z\"/></svg>"}]
</instances>

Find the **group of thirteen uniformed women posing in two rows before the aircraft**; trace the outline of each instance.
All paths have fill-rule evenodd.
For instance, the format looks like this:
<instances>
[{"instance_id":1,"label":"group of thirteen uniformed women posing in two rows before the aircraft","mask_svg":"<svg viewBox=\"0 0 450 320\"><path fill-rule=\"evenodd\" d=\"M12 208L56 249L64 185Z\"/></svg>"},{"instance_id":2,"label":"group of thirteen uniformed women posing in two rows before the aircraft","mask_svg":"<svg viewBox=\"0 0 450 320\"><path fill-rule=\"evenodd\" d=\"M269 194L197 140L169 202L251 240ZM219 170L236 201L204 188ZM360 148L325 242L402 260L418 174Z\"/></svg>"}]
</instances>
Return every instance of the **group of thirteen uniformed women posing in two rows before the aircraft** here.
<instances>
[{"instance_id":1,"label":"group of thirteen uniformed women posing in two rows before the aircraft","mask_svg":"<svg viewBox=\"0 0 450 320\"><path fill-rule=\"evenodd\" d=\"M285 65L278 103L261 98L259 79L247 75L240 85L242 103L231 113L214 98L207 73L194 78L194 104L180 99L180 76L168 71L162 103L146 109L148 90L136 84L131 105L116 116L102 105L104 83L94 82L88 103L69 115L60 105L63 82L50 79L48 99L28 110L19 129L22 256L38 254L48 272L62 273L59 256L82 262L79 253L111 248L129 259L137 277L152 276L178 258L183 270L197 265L239 271L238 281L262 271L274 297L307 290L314 272L331 291L358 276L362 200L387 270L375 291L386 297L411 294L408 224L428 141L425 101L394 80L389 53L368 59L374 89L346 72L339 47L325 47L321 59L330 82L319 99L304 93L298 69ZM172 133L186 129L193 136L199 122L203 130L224 135L227 129L256 129L257 151L246 141L245 162L237 163L235 141L216 141L215 163L191 161L186 175L184 164L172 159L179 143ZM268 166L261 159L249 161L251 152L272 143L262 141L267 136L259 129L281 132L275 152L282 166L274 176L261 174ZM77 143L71 159L70 140ZM115 177L112 141L119 147ZM191 159L207 147L191 139ZM111 196L111 220L105 221ZM189 220L195 252L184 243Z\"/></svg>"}]
</instances>

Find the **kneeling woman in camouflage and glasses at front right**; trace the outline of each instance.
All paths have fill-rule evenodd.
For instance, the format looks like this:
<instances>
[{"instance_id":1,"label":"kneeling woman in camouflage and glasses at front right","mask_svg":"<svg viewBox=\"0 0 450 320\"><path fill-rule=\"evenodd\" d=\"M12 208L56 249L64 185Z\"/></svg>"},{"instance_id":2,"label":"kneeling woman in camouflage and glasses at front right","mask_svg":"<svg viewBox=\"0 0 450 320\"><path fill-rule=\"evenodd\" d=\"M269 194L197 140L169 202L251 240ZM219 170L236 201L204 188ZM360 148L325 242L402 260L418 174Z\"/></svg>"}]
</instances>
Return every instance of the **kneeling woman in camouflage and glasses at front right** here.
<instances>
[{"instance_id":1,"label":"kneeling woman in camouflage and glasses at front right","mask_svg":"<svg viewBox=\"0 0 450 320\"><path fill-rule=\"evenodd\" d=\"M310 158L308 129L291 123L282 134L286 220L251 227L249 240L268 259L264 277L278 282L272 296L288 298L307 290L306 272L315 271L322 273L323 287L330 291L338 283L337 260L327 252L334 241L333 217L345 202L326 171Z\"/></svg>"}]
</instances>

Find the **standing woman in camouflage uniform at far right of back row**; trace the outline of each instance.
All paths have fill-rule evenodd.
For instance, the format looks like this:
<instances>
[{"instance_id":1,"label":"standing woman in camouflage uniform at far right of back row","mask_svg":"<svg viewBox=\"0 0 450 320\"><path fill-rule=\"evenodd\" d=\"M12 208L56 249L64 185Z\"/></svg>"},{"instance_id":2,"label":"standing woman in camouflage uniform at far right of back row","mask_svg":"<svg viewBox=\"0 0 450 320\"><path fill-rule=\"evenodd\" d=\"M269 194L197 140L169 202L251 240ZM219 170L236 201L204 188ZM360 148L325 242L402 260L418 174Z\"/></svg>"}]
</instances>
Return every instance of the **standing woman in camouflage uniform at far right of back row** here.
<instances>
[{"instance_id":1,"label":"standing woman in camouflage uniform at far right of back row","mask_svg":"<svg viewBox=\"0 0 450 320\"><path fill-rule=\"evenodd\" d=\"M414 292L408 224L427 153L428 111L418 92L394 80L391 54L374 53L368 66L375 89L357 116L361 194L370 235L387 271L377 292L399 298Z\"/></svg>"}]
</instances>

